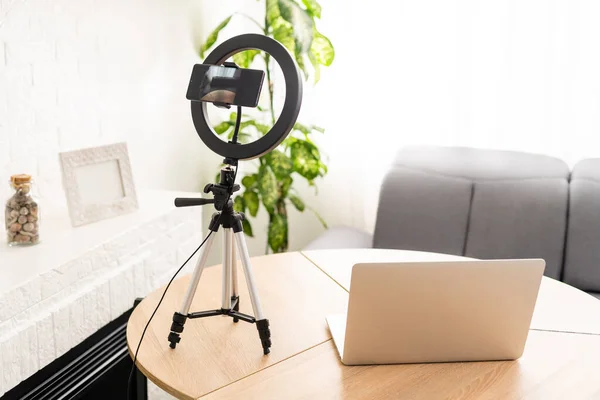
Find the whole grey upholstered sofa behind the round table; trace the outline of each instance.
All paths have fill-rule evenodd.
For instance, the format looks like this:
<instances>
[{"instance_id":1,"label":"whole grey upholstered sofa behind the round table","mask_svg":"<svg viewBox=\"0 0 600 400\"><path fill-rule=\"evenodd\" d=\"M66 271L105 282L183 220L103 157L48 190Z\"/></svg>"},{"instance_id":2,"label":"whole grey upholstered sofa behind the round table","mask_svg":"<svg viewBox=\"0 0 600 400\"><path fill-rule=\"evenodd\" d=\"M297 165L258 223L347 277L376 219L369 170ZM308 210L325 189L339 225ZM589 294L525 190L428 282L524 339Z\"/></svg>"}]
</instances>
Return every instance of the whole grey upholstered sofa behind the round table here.
<instances>
[{"instance_id":1,"label":"whole grey upholstered sofa behind the round table","mask_svg":"<svg viewBox=\"0 0 600 400\"><path fill-rule=\"evenodd\" d=\"M499 150L401 150L375 232L325 232L306 249L389 248L482 259L540 257L545 274L600 298L600 159Z\"/></svg>"}]
</instances>

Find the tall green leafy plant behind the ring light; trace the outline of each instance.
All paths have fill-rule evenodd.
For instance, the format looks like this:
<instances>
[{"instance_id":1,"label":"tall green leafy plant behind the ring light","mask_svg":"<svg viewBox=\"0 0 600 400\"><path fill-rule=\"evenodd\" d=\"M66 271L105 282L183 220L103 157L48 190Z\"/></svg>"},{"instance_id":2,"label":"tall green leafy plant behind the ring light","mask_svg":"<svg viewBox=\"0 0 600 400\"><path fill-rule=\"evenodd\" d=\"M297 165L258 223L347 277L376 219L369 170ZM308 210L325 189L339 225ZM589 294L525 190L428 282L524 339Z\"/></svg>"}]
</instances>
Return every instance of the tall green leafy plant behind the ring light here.
<instances>
[{"instance_id":1,"label":"tall green leafy plant behind the ring light","mask_svg":"<svg viewBox=\"0 0 600 400\"><path fill-rule=\"evenodd\" d=\"M294 56L304 79L316 84L320 77L320 68L333 62L335 52L331 41L317 30L316 21L321 17L321 6L315 0L265 0L265 18L259 22L243 14L234 13L225 18L206 38L200 47L200 57L204 58L216 43L219 33L233 18L251 20L262 34L282 43ZM258 107L252 115L242 115L239 140L253 141L269 131L275 123L273 60L266 53L247 50L233 56L233 61L241 68L249 68L261 60L266 75L268 105ZM214 126L217 134L231 138L236 113L229 119ZM296 123L290 135L275 150L259 158L256 172L241 179L243 194L235 198L236 211L255 217L262 204L269 214L267 252L284 252L288 249L288 206L303 212L308 207L294 188L294 180L305 179L309 185L315 185L315 179L325 176L327 166L321 159L321 151L311 139L324 130L311 124ZM239 180L239 178L238 178ZM326 226L323 218L312 210L319 221ZM244 221L244 232L253 236L252 225Z\"/></svg>"}]
</instances>

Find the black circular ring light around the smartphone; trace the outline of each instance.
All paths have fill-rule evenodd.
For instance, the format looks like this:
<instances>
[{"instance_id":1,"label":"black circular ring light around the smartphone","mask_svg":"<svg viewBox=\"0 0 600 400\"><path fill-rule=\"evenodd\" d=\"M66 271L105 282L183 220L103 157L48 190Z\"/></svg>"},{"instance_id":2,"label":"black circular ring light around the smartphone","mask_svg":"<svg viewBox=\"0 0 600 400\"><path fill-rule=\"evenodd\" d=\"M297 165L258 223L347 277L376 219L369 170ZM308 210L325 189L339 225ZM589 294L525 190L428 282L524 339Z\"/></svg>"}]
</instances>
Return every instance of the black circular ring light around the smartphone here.
<instances>
[{"instance_id":1,"label":"black circular ring light around the smartphone","mask_svg":"<svg viewBox=\"0 0 600 400\"><path fill-rule=\"evenodd\" d=\"M292 130L302 105L302 77L290 53L281 43L268 36L253 33L233 37L215 48L204 64L221 65L232 55L244 50L262 50L277 61L285 78L285 102L275 125L258 140L228 143L213 131L206 117L206 102L192 101L192 120L200 139L215 153L235 160L249 160L273 150Z\"/></svg>"}]
</instances>

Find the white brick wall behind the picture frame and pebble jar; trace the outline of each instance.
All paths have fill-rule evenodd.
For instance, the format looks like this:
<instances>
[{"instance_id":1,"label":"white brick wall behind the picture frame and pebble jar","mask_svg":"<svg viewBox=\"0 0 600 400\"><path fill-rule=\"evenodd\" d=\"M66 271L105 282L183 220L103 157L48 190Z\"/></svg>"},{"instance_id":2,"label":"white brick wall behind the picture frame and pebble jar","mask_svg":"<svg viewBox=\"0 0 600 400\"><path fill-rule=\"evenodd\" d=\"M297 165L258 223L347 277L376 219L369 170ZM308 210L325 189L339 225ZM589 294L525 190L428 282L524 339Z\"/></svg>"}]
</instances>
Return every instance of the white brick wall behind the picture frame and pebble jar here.
<instances>
[{"instance_id":1,"label":"white brick wall behind the picture frame and pebble jar","mask_svg":"<svg viewBox=\"0 0 600 400\"><path fill-rule=\"evenodd\" d=\"M192 5L0 0L2 201L25 172L42 207L64 204L58 152L116 141L129 144L138 186L198 186L203 146L185 100Z\"/></svg>"}]
</instances>

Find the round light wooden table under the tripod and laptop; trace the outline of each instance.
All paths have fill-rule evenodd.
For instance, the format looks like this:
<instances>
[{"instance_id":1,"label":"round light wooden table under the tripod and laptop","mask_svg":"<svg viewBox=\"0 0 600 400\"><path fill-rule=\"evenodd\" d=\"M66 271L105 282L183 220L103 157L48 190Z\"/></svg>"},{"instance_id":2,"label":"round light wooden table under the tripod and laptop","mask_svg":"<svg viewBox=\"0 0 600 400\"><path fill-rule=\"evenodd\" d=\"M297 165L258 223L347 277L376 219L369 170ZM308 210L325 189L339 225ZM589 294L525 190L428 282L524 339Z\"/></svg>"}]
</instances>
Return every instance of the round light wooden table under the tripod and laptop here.
<instances>
[{"instance_id":1,"label":"round light wooden table under the tripod and laptop","mask_svg":"<svg viewBox=\"0 0 600 400\"><path fill-rule=\"evenodd\" d=\"M523 357L516 361L348 367L325 316L344 312L352 266L460 257L395 250L323 250L252 259L273 347L228 317L189 320L176 350L167 335L189 277L176 280L148 328L139 369L181 399L600 399L600 301L544 278ZM240 278L243 275L240 274ZM240 282L241 310L251 313ZM134 310L130 351L162 294ZM205 270L192 310L218 308L220 268Z\"/></svg>"}]
</instances>

